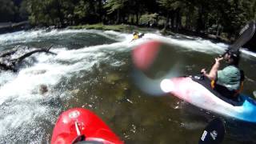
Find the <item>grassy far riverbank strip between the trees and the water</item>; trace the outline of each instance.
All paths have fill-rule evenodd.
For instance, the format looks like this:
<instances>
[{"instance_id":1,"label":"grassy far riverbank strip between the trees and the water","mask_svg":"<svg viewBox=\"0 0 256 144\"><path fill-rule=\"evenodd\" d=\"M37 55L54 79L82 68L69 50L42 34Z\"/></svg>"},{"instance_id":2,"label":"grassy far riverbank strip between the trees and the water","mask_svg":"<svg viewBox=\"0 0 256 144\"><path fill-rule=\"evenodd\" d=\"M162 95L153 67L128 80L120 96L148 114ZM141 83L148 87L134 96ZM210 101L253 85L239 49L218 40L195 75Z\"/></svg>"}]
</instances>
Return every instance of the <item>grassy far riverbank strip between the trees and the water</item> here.
<instances>
[{"instance_id":1,"label":"grassy far riverbank strip between the trees and the water","mask_svg":"<svg viewBox=\"0 0 256 144\"><path fill-rule=\"evenodd\" d=\"M15 31L19 30L36 30L40 28L46 28L46 30L51 30L51 29L65 29L63 28L58 28L56 26L48 26L48 27L41 27L41 26L30 26L30 23L28 21L24 22L18 22L18 23L11 23L9 22L5 26L0 25L0 34L6 34L6 33L12 33ZM150 31L155 31L159 30L162 32L161 29L159 28L150 28L150 27L145 27L145 26L133 26L133 25L102 25L102 24L95 24L95 25L82 25L82 26L66 26L66 29L71 29L71 30L80 30L80 29L95 29L95 30L114 30L114 31L119 31L119 32L126 32L132 34L135 30L143 33L147 33ZM163 34L163 32L162 32ZM221 37L216 37L213 34L202 34L202 33L197 33L194 31L189 31L189 30L178 30L178 32L173 32L172 30L165 30L163 35L173 35L173 34L184 34L187 36L194 36L194 37L200 37L204 39L208 39L212 42L223 42L226 44L232 43L230 40L226 38L221 38Z\"/></svg>"}]
</instances>

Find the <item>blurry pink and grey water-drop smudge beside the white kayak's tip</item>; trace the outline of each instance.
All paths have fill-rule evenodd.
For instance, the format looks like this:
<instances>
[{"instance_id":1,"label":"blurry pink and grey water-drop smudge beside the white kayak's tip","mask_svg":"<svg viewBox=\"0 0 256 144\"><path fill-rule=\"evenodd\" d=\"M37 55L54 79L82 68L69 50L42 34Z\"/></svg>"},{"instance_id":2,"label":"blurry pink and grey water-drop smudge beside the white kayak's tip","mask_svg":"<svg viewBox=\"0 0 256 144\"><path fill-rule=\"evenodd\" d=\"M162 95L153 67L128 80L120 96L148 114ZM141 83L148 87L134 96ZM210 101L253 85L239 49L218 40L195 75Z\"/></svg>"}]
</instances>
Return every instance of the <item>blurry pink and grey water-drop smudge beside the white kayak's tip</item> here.
<instances>
[{"instance_id":1,"label":"blurry pink and grey water-drop smudge beside the white kayak's tip","mask_svg":"<svg viewBox=\"0 0 256 144\"><path fill-rule=\"evenodd\" d=\"M146 94L160 96L166 94L161 88L164 79L180 76L179 66L182 62L176 59L170 65L163 63L170 61L170 49L172 46L164 42L150 41L142 43L132 50L134 62L134 83Z\"/></svg>"}]
</instances>

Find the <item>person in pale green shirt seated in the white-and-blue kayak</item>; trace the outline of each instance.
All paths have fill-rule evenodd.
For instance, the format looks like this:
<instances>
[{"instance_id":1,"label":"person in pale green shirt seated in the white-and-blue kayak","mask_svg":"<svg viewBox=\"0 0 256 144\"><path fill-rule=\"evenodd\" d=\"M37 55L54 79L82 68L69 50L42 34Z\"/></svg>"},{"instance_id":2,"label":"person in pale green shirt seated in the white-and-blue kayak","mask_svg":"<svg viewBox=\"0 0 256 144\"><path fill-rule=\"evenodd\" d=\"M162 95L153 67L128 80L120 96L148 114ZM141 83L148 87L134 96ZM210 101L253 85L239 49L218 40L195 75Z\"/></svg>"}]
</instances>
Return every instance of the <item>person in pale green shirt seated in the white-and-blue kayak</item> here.
<instances>
[{"instance_id":1,"label":"person in pale green shirt seated in the white-and-blue kayak","mask_svg":"<svg viewBox=\"0 0 256 144\"><path fill-rule=\"evenodd\" d=\"M219 70L222 60L225 60L228 66ZM242 90L242 81L244 75L242 70L239 70L238 64L240 60L240 52L227 50L221 58L215 58L214 66L210 73L206 73L206 69L201 72L207 78L210 78L211 86L226 98L237 100L237 95Z\"/></svg>"}]
</instances>

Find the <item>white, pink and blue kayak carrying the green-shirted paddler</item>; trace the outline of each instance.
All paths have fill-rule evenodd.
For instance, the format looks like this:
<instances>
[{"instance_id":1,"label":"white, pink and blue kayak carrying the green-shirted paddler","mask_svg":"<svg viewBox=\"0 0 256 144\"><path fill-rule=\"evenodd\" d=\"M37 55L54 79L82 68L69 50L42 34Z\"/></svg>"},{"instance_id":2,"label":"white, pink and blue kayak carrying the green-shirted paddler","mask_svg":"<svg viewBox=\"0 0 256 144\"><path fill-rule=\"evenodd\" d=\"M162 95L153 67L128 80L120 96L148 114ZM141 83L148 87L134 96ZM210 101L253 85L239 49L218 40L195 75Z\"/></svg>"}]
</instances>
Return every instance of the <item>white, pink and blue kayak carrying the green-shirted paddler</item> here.
<instances>
[{"instance_id":1,"label":"white, pink and blue kayak carrying the green-shirted paddler","mask_svg":"<svg viewBox=\"0 0 256 144\"><path fill-rule=\"evenodd\" d=\"M234 101L223 97L210 88L210 81L206 78L180 77L162 80L161 89L186 102L205 110L246 122L256 122L256 102L254 99L239 94Z\"/></svg>"}]
</instances>

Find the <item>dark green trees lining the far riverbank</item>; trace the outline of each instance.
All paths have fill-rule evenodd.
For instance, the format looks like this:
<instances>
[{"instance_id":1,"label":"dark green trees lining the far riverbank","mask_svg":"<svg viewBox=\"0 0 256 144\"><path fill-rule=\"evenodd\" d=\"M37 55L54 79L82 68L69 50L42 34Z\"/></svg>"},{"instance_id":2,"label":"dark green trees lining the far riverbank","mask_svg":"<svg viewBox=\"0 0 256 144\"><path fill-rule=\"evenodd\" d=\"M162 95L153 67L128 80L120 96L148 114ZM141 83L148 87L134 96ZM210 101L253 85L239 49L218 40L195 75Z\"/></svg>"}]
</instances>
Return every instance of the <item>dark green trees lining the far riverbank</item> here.
<instances>
[{"instance_id":1,"label":"dark green trees lining the far riverbank","mask_svg":"<svg viewBox=\"0 0 256 144\"><path fill-rule=\"evenodd\" d=\"M256 18L255 0L0 0L0 22L25 20L35 26L121 24L192 30L222 27L228 37ZM99 26L95 28L101 28ZM104 29L104 28L102 28ZM115 29L115 27L114 27ZM116 30L120 30L118 27ZM221 34L220 34L221 35Z\"/></svg>"}]
</instances>

